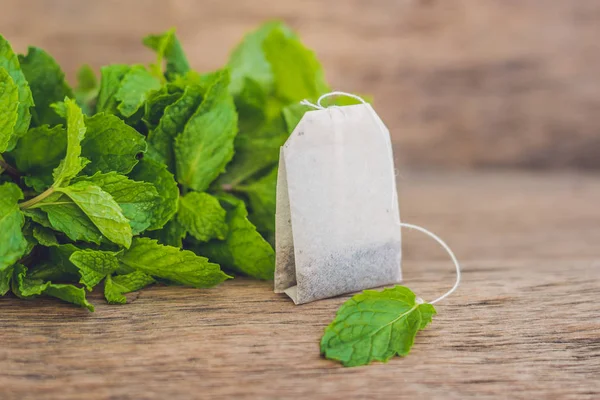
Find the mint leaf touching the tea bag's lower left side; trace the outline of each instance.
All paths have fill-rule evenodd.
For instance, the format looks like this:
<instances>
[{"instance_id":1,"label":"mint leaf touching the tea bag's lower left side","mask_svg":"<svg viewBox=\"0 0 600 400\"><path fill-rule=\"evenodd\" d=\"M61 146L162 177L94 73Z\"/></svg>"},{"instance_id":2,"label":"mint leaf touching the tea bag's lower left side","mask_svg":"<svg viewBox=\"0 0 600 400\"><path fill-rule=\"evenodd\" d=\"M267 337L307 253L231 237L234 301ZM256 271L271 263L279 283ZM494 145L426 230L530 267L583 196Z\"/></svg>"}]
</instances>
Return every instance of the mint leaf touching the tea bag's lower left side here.
<instances>
[{"instance_id":1,"label":"mint leaf touching the tea bag's lower left side","mask_svg":"<svg viewBox=\"0 0 600 400\"><path fill-rule=\"evenodd\" d=\"M275 252L248 220L243 201L233 196L222 197L227 209L229 233L224 241L198 244L195 250L210 260L258 279L273 279Z\"/></svg>"}]
</instances>

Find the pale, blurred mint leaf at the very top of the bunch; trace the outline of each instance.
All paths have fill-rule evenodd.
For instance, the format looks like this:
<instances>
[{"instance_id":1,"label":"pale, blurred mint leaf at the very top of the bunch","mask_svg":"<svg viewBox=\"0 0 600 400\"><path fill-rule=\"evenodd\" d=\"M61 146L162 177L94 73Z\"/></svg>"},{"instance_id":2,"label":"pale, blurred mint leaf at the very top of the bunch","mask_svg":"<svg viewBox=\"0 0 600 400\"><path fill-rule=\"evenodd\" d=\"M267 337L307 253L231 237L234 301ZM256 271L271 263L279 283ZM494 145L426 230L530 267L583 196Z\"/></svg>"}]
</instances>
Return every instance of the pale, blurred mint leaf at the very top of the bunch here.
<instances>
[{"instance_id":1,"label":"pale, blurred mint leaf at the very top of the bunch","mask_svg":"<svg viewBox=\"0 0 600 400\"><path fill-rule=\"evenodd\" d=\"M243 90L245 79L251 78L265 91L271 93L275 86L273 71L265 52L263 43L273 32L281 32L293 38L293 32L281 22L268 22L254 32L247 34L243 41L233 50L227 64L231 71L231 93Z\"/></svg>"}]
</instances>

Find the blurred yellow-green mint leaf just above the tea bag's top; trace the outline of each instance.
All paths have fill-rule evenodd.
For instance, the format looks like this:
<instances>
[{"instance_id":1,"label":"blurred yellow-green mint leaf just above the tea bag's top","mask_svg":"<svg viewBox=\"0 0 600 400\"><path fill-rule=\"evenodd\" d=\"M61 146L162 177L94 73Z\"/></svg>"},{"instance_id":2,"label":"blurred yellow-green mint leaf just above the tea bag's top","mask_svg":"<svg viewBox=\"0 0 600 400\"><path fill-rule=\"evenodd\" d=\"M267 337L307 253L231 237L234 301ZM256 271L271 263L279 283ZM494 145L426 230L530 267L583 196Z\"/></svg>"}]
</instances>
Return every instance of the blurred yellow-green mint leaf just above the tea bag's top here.
<instances>
[{"instance_id":1,"label":"blurred yellow-green mint leaf just above the tea bag's top","mask_svg":"<svg viewBox=\"0 0 600 400\"><path fill-rule=\"evenodd\" d=\"M265 38L263 50L273 71L278 98L292 103L329 91L317 57L297 38L274 30Z\"/></svg>"}]
</instances>

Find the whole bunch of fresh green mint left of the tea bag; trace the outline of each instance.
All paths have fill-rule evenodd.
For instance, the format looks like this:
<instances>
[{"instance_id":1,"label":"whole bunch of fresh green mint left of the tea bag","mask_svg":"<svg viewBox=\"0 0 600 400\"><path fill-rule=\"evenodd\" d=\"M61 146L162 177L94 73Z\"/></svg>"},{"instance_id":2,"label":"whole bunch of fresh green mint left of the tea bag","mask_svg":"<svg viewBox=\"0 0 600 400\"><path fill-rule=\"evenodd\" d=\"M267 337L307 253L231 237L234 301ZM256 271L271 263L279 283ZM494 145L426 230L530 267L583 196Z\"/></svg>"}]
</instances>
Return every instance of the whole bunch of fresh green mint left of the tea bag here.
<instances>
[{"instance_id":1,"label":"whole bunch of fresh green mint left of the tea bag","mask_svg":"<svg viewBox=\"0 0 600 400\"><path fill-rule=\"evenodd\" d=\"M86 307L153 283L272 279L279 148L329 91L312 51L278 22L217 71L190 69L174 31L151 65L57 62L0 36L0 295ZM224 272L226 271L226 272Z\"/></svg>"}]
</instances>

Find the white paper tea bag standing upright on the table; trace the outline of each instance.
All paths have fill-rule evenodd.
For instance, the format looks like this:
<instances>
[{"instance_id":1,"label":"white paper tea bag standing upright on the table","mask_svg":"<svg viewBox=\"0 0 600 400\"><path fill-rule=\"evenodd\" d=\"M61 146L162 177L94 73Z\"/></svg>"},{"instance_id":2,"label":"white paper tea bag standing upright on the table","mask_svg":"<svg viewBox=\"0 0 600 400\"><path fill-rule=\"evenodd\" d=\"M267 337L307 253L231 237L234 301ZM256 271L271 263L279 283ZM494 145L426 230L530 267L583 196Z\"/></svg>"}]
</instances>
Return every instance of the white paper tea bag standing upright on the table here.
<instances>
[{"instance_id":1,"label":"white paper tea bag standing upright on the table","mask_svg":"<svg viewBox=\"0 0 600 400\"><path fill-rule=\"evenodd\" d=\"M400 258L383 122L369 104L306 112L280 153L275 292L303 304L397 283Z\"/></svg>"}]
</instances>

